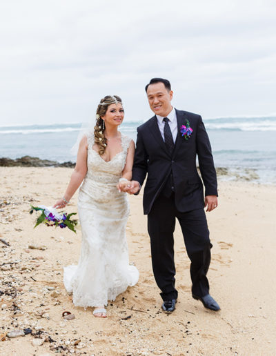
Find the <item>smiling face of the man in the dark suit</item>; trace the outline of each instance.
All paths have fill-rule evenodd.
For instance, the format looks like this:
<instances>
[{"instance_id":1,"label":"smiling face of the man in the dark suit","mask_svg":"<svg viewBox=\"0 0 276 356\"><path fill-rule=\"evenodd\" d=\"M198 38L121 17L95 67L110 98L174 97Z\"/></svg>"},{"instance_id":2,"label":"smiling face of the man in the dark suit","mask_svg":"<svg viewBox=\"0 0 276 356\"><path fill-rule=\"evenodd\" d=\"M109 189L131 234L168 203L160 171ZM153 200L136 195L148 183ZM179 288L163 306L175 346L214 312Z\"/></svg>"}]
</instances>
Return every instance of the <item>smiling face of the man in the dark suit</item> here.
<instances>
[{"instance_id":1,"label":"smiling face of the man in the dark suit","mask_svg":"<svg viewBox=\"0 0 276 356\"><path fill-rule=\"evenodd\" d=\"M172 90L168 91L164 83L154 83L148 86L148 103L155 115L166 117L172 110Z\"/></svg>"}]
</instances>

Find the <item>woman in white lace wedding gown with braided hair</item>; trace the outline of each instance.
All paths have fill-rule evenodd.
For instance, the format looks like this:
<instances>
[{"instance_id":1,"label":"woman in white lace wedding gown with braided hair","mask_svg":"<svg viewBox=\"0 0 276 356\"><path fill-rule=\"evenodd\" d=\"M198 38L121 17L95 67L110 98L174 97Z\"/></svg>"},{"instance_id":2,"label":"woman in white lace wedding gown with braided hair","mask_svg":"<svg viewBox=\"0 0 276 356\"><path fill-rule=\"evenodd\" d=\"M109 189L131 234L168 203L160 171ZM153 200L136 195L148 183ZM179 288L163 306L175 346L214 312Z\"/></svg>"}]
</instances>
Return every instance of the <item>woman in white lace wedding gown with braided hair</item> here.
<instances>
[{"instance_id":1,"label":"woman in white lace wedding gown with braided hair","mask_svg":"<svg viewBox=\"0 0 276 356\"><path fill-rule=\"evenodd\" d=\"M95 317L106 317L108 300L115 300L139 278L128 261L129 206L127 193L121 192L130 184L135 144L118 130L123 119L119 97L101 99L94 132L81 139L68 188L54 206L64 208L81 185L81 255L77 266L64 268L63 282L73 293L75 306L94 306Z\"/></svg>"}]
</instances>

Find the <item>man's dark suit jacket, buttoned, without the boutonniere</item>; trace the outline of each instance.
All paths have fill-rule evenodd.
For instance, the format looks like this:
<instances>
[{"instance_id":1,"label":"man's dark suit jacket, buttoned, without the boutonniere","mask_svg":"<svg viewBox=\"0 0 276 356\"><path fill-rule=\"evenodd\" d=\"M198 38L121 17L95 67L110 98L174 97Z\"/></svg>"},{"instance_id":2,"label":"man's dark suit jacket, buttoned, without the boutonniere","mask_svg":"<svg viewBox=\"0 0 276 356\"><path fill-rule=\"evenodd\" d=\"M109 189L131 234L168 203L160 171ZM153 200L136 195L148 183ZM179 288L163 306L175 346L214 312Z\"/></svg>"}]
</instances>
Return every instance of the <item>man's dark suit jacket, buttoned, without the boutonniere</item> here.
<instances>
[{"instance_id":1,"label":"man's dark suit jacket, buttoned, without the boutonniere","mask_svg":"<svg viewBox=\"0 0 276 356\"><path fill-rule=\"evenodd\" d=\"M217 175L204 123L199 115L176 110L177 139L172 155L166 144L154 116L137 128L137 143L132 169L132 180L144 183L144 214L148 214L152 204L164 188L168 176L172 173L175 187L177 210L186 212L204 208L204 190L197 172L196 157L205 186L205 195L217 195ZM181 136L180 128L189 121L192 135L186 140Z\"/></svg>"}]
</instances>

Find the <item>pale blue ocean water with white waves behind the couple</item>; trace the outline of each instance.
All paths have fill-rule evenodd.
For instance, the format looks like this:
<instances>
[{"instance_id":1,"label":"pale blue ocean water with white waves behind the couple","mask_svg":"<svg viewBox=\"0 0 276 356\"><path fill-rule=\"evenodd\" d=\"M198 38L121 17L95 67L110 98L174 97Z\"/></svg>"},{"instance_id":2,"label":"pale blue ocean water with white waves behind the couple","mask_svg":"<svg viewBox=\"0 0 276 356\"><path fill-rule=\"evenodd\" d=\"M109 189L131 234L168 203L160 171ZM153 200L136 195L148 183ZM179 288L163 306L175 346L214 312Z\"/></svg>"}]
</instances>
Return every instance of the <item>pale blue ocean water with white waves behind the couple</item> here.
<instances>
[{"instance_id":1,"label":"pale blue ocean water with white waves behind the couple","mask_svg":"<svg viewBox=\"0 0 276 356\"><path fill-rule=\"evenodd\" d=\"M228 168L232 177L255 172L255 181L276 184L276 117L204 119L216 167ZM136 139L141 122L124 121L120 130ZM80 123L0 126L0 157L25 155L54 161L75 161L70 148ZM231 179L226 175L225 179Z\"/></svg>"}]
</instances>

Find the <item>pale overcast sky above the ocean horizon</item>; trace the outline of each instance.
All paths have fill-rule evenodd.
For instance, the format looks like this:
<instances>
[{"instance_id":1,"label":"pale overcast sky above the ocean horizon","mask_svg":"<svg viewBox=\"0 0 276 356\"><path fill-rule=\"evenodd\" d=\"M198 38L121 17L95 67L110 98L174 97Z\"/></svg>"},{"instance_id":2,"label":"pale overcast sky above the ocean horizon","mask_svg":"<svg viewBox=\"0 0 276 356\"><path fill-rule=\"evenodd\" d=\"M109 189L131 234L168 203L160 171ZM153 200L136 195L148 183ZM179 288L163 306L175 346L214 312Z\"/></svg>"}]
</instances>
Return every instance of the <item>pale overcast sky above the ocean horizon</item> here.
<instances>
[{"instance_id":1,"label":"pale overcast sky above the ocean horizon","mask_svg":"<svg viewBox=\"0 0 276 356\"><path fill-rule=\"evenodd\" d=\"M152 77L202 117L275 115L275 19L275 0L1 1L0 125L89 121L105 95L145 121Z\"/></svg>"}]
</instances>

